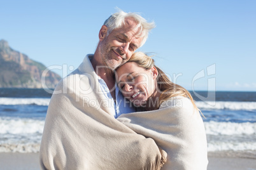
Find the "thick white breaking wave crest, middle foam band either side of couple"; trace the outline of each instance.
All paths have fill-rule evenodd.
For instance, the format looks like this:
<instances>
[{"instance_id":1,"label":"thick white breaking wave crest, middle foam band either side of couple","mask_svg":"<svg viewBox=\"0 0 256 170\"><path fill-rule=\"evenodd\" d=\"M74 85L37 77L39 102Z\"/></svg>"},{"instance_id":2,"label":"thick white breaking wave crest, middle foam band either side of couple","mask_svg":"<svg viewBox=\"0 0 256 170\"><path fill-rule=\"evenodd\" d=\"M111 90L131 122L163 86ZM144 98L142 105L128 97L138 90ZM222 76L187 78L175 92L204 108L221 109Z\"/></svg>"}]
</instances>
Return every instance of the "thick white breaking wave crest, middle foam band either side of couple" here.
<instances>
[{"instance_id":1,"label":"thick white breaking wave crest, middle foam band either side of couple","mask_svg":"<svg viewBox=\"0 0 256 170\"><path fill-rule=\"evenodd\" d=\"M32 134L43 133L44 120L0 117L0 134ZM238 135L256 134L256 123L252 122L204 122L206 134L211 135Z\"/></svg>"}]
</instances>

